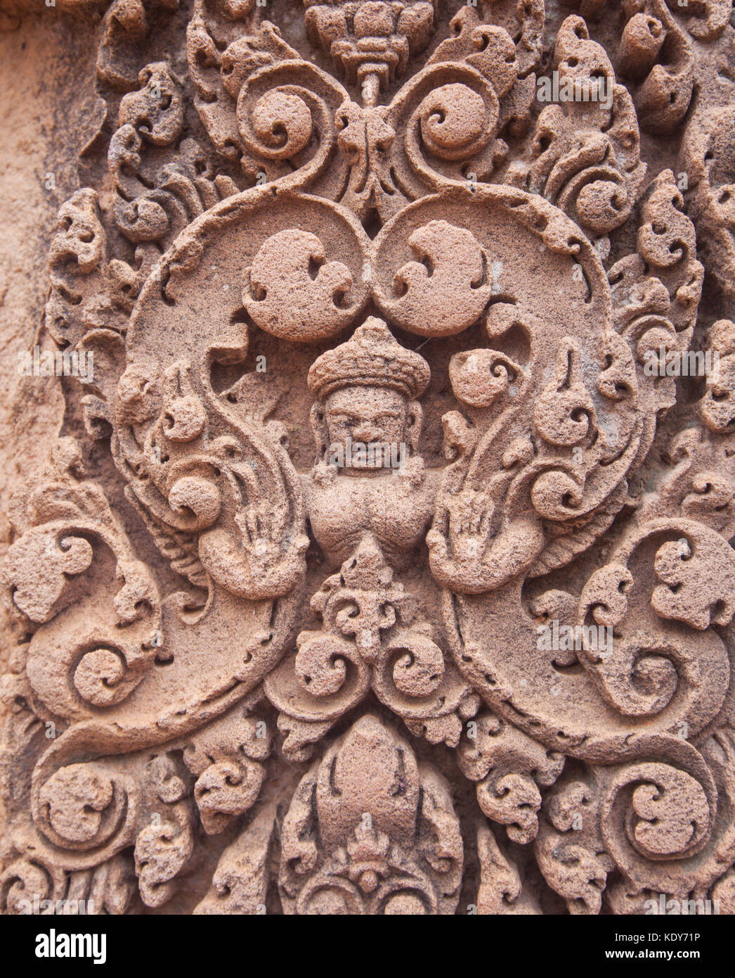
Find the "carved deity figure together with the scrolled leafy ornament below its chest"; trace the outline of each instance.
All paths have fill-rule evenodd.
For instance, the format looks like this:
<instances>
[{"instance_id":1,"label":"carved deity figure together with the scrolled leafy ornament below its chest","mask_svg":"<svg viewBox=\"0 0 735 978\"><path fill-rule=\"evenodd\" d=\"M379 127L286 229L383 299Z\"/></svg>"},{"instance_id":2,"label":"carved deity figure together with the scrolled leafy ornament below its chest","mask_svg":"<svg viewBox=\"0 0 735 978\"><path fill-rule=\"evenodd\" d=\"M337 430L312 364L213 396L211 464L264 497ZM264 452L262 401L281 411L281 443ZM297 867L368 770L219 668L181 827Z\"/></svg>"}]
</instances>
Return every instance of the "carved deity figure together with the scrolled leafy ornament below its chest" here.
<instances>
[{"instance_id":1,"label":"carved deity figure together with the scrolled leafy ornament below its chest","mask_svg":"<svg viewBox=\"0 0 735 978\"><path fill-rule=\"evenodd\" d=\"M309 370L319 455L306 481L308 516L327 561L343 562L310 602L321 630L301 632L296 654L265 681L289 757L303 758L304 743L369 689L413 733L452 746L479 706L431 624L417 616L416 598L394 580L426 534L436 491L417 454L416 398L428 382L424 358L399 346L377 319ZM362 452L351 453L352 445ZM396 446L406 458L390 454ZM350 466L340 468L346 453ZM387 461L392 467L381 471Z\"/></svg>"}]
</instances>

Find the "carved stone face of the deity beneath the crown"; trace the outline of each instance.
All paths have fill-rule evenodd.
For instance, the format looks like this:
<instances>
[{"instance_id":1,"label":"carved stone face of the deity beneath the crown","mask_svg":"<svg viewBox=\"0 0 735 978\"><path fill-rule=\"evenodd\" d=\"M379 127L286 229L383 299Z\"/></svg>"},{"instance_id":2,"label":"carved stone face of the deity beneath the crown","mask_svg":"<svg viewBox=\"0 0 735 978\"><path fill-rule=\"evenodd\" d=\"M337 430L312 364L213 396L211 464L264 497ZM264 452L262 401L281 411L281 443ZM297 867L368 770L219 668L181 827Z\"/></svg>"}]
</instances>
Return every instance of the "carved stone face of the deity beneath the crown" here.
<instances>
[{"instance_id":1,"label":"carved stone face of the deity beneath the crown","mask_svg":"<svg viewBox=\"0 0 735 978\"><path fill-rule=\"evenodd\" d=\"M376 465L380 453L375 449L388 444L396 451L405 445L409 405L402 394L388 387L342 387L327 398L324 418L330 446L342 445L347 452L349 438L352 447L367 447L367 458L355 456L352 451L352 468L383 467L380 461Z\"/></svg>"}]
</instances>

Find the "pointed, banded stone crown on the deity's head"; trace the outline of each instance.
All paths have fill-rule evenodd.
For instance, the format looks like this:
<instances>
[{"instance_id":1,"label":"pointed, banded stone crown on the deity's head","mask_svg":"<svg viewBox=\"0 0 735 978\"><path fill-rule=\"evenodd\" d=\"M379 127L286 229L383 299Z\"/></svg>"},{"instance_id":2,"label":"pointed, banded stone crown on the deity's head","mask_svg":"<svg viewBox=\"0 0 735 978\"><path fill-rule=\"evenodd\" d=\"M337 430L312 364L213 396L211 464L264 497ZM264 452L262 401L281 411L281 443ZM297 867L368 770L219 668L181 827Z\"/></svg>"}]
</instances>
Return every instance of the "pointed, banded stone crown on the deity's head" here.
<instances>
[{"instance_id":1,"label":"pointed, banded stone crown on the deity's head","mask_svg":"<svg viewBox=\"0 0 735 978\"><path fill-rule=\"evenodd\" d=\"M323 400L341 387L392 387L405 397L421 397L431 372L424 357L407 350L382 319L371 316L346 343L322 353L308 372L308 389Z\"/></svg>"}]
</instances>

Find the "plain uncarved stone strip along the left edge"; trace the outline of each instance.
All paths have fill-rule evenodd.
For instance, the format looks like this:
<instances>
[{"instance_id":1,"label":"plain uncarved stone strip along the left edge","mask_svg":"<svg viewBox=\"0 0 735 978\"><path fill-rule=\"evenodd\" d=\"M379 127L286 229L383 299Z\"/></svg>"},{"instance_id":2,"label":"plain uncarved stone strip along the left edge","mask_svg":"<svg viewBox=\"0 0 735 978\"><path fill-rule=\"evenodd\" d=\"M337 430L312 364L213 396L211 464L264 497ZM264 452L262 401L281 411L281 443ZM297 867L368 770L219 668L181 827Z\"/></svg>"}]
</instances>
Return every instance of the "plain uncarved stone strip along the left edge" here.
<instances>
[{"instance_id":1,"label":"plain uncarved stone strip along the left edge","mask_svg":"<svg viewBox=\"0 0 735 978\"><path fill-rule=\"evenodd\" d=\"M44 4L36 10L20 18L17 6L0 7L0 560L9 498L44 466L63 420L57 378L22 378L19 354L41 326L57 211L81 186L77 156L94 136L99 17L69 18ZM5 604L0 614L2 674L16 639ZM4 709L0 702L0 723Z\"/></svg>"}]
</instances>

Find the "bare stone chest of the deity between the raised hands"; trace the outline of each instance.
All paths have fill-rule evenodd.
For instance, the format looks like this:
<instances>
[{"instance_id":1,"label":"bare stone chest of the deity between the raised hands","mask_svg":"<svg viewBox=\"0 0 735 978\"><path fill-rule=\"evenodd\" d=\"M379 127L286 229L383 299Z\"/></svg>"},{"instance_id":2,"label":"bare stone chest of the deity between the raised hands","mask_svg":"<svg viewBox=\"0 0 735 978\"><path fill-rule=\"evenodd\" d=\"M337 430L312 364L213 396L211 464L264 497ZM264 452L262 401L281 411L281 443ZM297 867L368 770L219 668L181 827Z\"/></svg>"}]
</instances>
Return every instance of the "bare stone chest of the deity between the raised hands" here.
<instances>
[{"instance_id":1,"label":"bare stone chest of the deity between the raised hands","mask_svg":"<svg viewBox=\"0 0 735 978\"><path fill-rule=\"evenodd\" d=\"M389 563L400 566L429 528L434 492L400 474L338 476L329 485L306 483L311 530L324 555L342 563L371 533Z\"/></svg>"}]
</instances>

